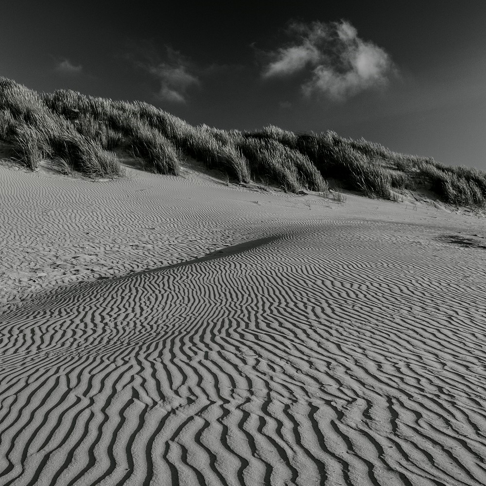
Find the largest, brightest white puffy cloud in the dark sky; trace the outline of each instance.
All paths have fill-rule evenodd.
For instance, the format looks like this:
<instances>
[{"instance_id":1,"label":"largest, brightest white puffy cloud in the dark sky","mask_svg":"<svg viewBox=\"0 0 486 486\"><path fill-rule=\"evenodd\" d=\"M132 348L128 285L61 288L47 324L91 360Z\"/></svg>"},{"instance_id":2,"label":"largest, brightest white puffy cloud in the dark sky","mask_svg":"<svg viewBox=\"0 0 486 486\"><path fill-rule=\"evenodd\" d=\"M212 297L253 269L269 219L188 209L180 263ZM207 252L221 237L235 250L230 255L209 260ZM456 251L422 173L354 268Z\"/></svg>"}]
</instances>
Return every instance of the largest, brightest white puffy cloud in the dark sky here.
<instances>
[{"instance_id":1,"label":"largest, brightest white puffy cloud in the dark sky","mask_svg":"<svg viewBox=\"0 0 486 486\"><path fill-rule=\"evenodd\" d=\"M398 69L389 54L370 41L358 37L346 20L290 24L293 43L270 52L263 78L288 76L304 71L306 96L323 94L344 100L372 87L386 85Z\"/></svg>"}]
</instances>

